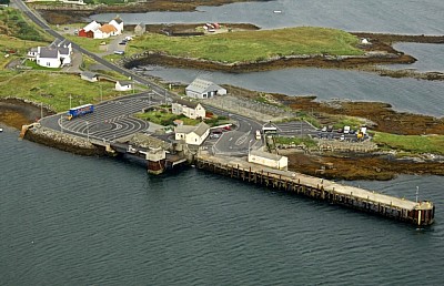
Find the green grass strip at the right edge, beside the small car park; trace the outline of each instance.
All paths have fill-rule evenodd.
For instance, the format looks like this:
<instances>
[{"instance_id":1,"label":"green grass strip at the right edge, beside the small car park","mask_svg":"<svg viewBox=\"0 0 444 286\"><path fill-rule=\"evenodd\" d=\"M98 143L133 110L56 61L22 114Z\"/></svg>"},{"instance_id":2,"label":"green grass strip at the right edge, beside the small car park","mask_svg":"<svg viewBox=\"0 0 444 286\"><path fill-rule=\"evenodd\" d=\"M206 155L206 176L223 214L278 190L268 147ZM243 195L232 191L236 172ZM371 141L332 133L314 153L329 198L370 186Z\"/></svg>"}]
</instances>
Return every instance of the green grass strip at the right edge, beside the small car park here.
<instances>
[{"instance_id":1,"label":"green grass strip at the right edge, beside the small car park","mask_svg":"<svg viewBox=\"0 0 444 286\"><path fill-rule=\"evenodd\" d=\"M414 154L432 153L444 155L444 135L395 135L376 132L373 142L385 149L394 149Z\"/></svg>"}]
</instances>

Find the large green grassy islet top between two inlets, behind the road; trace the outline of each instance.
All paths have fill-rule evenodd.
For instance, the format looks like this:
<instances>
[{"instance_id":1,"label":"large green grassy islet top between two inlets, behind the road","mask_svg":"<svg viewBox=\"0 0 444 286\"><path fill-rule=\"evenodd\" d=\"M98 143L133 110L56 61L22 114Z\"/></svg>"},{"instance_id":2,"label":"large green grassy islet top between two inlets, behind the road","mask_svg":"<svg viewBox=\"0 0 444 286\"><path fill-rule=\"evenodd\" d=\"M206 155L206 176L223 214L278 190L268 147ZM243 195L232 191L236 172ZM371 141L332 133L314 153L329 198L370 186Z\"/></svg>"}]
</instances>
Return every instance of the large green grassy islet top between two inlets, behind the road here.
<instances>
[{"instance_id":1,"label":"large green grassy islet top between two inlets, behind the road","mask_svg":"<svg viewBox=\"0 0 444 286\"><path fill-rule=\"evenodd\" d=\"M357 42L356 37L341 30L300 27L183 38L149 33L135 38L128 48L130 53L158 51L233 63L281 55L363 54L362 50L354 47Z\"/></svg>"}]
</instances>

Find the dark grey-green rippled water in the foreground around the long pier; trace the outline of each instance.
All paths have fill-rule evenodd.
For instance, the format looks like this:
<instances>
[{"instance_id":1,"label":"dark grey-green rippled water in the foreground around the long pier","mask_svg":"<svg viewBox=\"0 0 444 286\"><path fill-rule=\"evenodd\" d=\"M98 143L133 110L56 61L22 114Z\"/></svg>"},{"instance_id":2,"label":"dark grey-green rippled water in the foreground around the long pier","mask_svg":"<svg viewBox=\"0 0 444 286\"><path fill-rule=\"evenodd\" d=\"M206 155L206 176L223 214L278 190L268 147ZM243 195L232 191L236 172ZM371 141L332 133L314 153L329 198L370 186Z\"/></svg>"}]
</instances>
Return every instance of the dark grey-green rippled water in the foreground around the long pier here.
<instances>
[{"instance_id":1,"label":"dark grey-green rippled water in the foreground around the long pier","mask_svg":"<svg viewBox=\"0 0 444 286\"><path fill-rule=\"evenodd\" d=\"M195 168L82 157L1 133L2 285L437 285L444 177L351 184L437 205L426 229Z\"/></svg>"}]
</instances>

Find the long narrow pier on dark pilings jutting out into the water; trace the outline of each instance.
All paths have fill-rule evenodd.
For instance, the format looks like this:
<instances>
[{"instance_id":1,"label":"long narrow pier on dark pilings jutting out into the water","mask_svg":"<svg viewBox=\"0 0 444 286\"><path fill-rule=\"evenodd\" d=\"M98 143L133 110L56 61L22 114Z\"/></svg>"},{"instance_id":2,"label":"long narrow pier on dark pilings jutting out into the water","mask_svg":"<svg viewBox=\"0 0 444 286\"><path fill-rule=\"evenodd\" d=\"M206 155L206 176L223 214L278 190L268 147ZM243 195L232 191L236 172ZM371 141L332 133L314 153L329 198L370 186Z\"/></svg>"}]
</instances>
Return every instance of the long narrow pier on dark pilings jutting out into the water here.
<instances>
[{"instance_id":1,"label":"long narrow pier on dark pilings jutting out into the water","mask_svg":"<svg viewBox=\"0 0 444 286\"><path fill-rule=\"evenodd\" d=\"M329 180L252 164L242 159L199 154L195 162L196 167L201 170L417 226L431 225L434 222L435 206L432 202L412 202Z\"/></svg>"}]
</instances>

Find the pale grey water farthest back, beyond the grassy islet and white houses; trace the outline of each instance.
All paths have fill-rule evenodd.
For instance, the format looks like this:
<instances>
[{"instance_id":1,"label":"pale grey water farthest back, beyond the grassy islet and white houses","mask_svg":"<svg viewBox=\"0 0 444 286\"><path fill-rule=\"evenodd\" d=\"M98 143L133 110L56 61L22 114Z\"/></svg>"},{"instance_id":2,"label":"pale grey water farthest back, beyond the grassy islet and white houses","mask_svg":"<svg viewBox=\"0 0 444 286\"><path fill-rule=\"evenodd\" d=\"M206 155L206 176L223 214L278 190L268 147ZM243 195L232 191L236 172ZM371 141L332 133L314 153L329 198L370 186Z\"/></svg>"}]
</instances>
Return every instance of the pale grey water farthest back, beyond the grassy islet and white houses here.
<instances>
[{"instance_id":1,"label":"pale grey water farthest back, beyond the grassy islet and white houses","mask_svg":"<svg viewBox=\"0 0 444 286\"><path fill-rule=\"evenodd\" d=\"M282 13L273 13L281 10ZM319 25L346 31L443 34L444 2L441 0L276 0L221 7L200 7L194 12L121 13L128 24L144 23L253 23L263 29ZM110 21L114 13L91 17Z\"/></svg>"}]
</instances>

